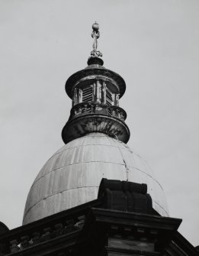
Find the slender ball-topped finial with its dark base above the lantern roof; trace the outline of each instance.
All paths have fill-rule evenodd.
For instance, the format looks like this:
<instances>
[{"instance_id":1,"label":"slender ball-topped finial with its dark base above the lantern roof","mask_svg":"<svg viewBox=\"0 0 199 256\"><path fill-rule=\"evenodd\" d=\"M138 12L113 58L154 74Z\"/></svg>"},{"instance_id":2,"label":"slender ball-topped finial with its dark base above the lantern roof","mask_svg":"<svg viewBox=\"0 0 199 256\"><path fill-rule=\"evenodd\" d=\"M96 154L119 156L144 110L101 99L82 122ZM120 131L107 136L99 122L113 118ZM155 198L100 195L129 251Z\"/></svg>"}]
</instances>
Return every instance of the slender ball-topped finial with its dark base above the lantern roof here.
<instances>
[{"instance_id":1,"label":"slender ball-topped finial with its dark base above the lantern roof","mask_svg":"<svg viewBox=\"0 0 199 256\"><path fill-rule=\"evenodd\" d=\"M102 53L98 50L98 38L100 37L99 24L96 21L92 24L91 37L93 38L93 50L91 51L91 56L88 57L88 65L98 64L103 66L104 61L100 58L102 57Z\"/></svg>"}]
</instances>

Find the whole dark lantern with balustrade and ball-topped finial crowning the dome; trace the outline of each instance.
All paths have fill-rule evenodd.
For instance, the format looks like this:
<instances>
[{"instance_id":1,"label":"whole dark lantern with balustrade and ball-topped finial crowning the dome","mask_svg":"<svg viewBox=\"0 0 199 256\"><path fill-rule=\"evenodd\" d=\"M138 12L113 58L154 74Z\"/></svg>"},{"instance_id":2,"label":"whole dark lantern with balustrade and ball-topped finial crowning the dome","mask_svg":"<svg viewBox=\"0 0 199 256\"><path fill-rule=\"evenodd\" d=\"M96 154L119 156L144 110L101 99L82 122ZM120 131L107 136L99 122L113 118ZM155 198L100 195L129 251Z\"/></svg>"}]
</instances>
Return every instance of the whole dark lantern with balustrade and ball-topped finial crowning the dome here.
<instances>
[{"instance_id":1,"label":"whole dark lantern with balustrade and ball-topped finial crowning the dome","mask_svg":"<svg viewBox=\"0 0 199 256\"><path fill-rule=\"evenodd\" d=\"M99 25L92 25L93 50L88 66L74 73L66 81L66 93L72 99L69 120L62 131L63 141L68 143L90 132L102 132L127 143L130 131L124 122L127 113L119 107L124 95L124 79L106 69L98 50Z\"/></svg>"}]
</instances>

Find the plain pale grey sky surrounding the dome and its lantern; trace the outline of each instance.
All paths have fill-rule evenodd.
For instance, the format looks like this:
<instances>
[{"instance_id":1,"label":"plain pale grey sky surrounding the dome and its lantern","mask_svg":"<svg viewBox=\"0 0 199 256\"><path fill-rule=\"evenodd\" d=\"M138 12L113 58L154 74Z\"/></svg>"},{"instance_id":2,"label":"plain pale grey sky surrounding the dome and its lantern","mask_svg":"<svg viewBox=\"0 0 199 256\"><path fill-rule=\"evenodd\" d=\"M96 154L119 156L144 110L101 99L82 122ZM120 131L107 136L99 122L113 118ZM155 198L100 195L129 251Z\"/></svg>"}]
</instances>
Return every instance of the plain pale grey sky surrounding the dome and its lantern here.
<instances>
[{"instance_id":1,"label":"plain pale grey sky surrounding the dome and its lantern","mask_svg":"<svg viewBox=\"0 0 199 256\"><path fill-rule=\"evenodd\" d=\"M199 1L0 0L0 221L63 146L66 79L87 66L98 21L104 66L123 76L129 146L152 168L179 232L199 245Z\"/></svg>"}]
</instances>

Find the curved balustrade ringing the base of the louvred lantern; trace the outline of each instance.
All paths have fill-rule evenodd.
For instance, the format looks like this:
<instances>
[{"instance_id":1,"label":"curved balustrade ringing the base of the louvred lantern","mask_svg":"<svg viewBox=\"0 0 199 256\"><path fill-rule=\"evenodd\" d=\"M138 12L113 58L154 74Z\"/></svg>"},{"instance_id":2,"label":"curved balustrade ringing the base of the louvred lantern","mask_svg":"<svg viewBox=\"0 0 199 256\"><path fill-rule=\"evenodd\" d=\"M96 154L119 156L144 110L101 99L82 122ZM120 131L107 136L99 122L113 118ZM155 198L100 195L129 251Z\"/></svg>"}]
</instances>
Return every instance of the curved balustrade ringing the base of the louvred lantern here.
<instances>
[{"instance_id":1,"label":"curved balustrade ringing the base of the louvred lantern","mask_svg":"<svg viewBox=\"0 0 199 256\"><path fill-rule=\"evenodd\" d=\"M80 115L88 114L110 115L115 118L120 118L122 121L127 118L127 113L124 111L124 109L121 109L118 106L82 102L73 106L70 112L69 120L72 120L73 118L76 118Z\"/></svg>"}]
</instances>

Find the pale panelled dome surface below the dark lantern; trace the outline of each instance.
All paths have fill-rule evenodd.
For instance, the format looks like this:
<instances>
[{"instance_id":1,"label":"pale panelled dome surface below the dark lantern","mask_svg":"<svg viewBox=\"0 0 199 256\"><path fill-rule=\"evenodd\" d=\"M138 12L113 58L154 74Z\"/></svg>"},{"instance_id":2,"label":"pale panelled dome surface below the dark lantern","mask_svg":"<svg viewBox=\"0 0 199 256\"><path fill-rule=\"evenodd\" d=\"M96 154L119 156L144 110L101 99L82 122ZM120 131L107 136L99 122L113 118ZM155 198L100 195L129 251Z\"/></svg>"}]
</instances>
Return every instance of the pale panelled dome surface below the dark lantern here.
<instances>
[{"instance_id":1,"label":"pale panelled dome surface below the dark lantern","mask_svg":"<svg viewBox=\"0 0 199 256\"><path fill-rule=\"evenodd\" d=\"M103 177L146 183L153 208L169 215L162 186L145 160L127 144L91 133L64 145L44 164L27 196L23 225L96 199Z\"/></svg>"}]
</instances>

